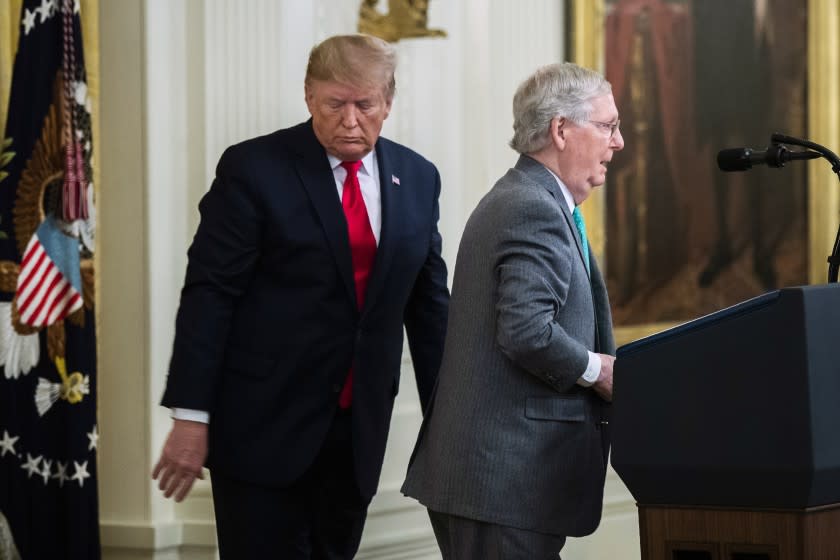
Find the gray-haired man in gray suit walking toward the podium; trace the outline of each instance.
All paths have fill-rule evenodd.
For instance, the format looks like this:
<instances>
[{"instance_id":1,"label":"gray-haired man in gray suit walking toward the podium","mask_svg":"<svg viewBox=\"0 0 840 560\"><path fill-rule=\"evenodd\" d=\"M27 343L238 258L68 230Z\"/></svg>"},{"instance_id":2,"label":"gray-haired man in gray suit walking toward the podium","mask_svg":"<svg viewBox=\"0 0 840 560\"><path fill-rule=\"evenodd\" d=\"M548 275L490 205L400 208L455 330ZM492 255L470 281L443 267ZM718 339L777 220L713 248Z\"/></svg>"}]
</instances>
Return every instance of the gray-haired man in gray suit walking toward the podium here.
<instances>
[{"instance_id":1,"label":"gray-haired man in gray suit walking toward the podium","mask_svg":"<svg viewBox=\"0 0 840 560\"><path fill-rule=\"evenodd\" d=\"M598 526L615 342L577 207L624 147L611 91L571 63L525 80L519 161L467 222L402 489L429 509L444 559L556 559Z\"/></svg>"}]
</instances>

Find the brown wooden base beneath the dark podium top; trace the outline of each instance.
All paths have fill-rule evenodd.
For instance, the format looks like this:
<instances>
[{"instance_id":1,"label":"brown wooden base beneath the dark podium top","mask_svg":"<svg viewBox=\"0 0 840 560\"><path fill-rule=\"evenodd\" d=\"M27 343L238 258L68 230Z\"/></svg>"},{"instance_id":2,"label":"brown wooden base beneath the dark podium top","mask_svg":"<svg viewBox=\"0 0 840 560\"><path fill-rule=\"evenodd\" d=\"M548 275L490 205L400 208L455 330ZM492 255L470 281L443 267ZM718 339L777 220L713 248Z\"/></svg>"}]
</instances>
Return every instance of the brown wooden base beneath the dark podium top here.
<instances>
[{"instance_id":1,"label":"brown wooden base beneath the dark podium top","mask_svg":"<svg viewBox=\"0 0 840 560\"><path fill-rule=\"evenodd\" d=\"M837 560L840 504L745 510L639 504L642 560Z\"/></svg>"}]
</instances>

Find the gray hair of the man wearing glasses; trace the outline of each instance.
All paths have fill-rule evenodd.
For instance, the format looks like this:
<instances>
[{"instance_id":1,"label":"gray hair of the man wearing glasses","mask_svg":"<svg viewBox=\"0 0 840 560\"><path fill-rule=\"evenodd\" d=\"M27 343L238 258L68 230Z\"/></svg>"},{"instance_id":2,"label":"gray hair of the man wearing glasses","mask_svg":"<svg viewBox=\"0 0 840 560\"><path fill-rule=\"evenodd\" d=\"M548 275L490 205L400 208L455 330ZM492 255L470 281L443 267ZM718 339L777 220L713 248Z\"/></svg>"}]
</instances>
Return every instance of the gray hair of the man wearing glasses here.
<instances>
[{"instance_id":1,"label":"gray hair of the man wearing glasses","mask_svg":"<svg viewBox=\"0 0 840 560\"><path fill-rule=\"evenodd\" d=\"M510 147L520 154L540 151L548 144L551 119L582 123L592 113L590 101L611 92L612 86L601 74L571 62L538 68L513 96Z\"/></svg>"}]
</instances>

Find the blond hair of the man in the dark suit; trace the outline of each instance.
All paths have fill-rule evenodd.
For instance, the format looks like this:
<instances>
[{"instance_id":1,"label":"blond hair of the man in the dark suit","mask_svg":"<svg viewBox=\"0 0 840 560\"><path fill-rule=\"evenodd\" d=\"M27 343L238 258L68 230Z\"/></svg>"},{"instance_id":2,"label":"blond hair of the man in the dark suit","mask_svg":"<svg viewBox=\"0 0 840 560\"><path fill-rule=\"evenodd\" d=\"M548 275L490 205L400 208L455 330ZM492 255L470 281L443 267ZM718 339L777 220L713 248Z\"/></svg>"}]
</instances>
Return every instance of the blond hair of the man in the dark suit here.
<instances>
[{"instance_id":1,"label":"blond hair of the man in the dark suit","mask_svg":"<svg viewBox=\"0 0 840 560\"><path fill-rule=\"evenodd\" d=\"M394 98L397 52L387 41L371 35L336 35L315 45L306 67L306 87L313 80L352 86L382 87Z\"/></svg>"}]
</instances>

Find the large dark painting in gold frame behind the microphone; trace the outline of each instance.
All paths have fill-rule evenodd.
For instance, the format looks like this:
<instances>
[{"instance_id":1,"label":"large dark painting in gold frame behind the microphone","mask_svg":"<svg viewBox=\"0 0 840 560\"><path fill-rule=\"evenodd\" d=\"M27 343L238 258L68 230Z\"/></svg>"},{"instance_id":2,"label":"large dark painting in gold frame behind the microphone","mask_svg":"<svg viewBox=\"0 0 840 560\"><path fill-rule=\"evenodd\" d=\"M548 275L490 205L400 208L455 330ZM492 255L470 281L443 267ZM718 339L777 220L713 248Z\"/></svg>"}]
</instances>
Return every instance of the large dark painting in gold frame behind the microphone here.
<instances>
[{"instance_id":1,"label":"large dark painting in gold frame behind the microphone","mask_svg":"<svg viewBox=\"0 0 840 560\"><path fill-rule=\"evenodd\" d=\"M773 132L837 150L832 0L570 0L569 52L613 85L625 149L584 205L619 343L769 290L826 281L825 161L718 170Z\"/></svg>"}]
</instances>

